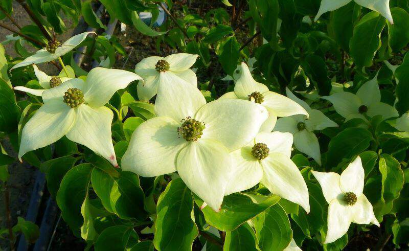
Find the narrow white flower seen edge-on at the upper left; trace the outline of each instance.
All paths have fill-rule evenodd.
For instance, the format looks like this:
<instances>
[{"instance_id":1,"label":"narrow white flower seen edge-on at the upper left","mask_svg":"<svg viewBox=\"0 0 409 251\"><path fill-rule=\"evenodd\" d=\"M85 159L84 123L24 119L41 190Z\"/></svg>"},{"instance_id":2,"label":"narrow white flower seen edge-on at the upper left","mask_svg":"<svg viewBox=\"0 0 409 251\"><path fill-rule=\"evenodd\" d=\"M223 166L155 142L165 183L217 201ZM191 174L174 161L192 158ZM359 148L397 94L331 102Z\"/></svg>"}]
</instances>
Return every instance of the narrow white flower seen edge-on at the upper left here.
<instances>
[{"instance_id":1,"label":"narrow white flower seen edge-on at the upper left","mask_svg":"<svg viewBox=\"0 0 409 251\"><path fill-rule=\"evenodd\" d=\"M80 44L82 41L85 40L86 36L90 33L94 33L95 32L84 32L78 35L75 35L73 37L71 37L70 39L66 40L65 42L63 42L59 47L57 47L55 49L54 53L51 53L49 51L47 51L47 49L41 49L39 51L37 51L34 55L27 57L26 59L24 59L23 61L17 63L16 65L14 65L11 69L15 69L18 67L22 67L22 66L26 66L26 65L30 65L33 63L44 63L44 62L50 62L53 61L63 55L65 55L66 53L71 52L74 48L76 48L78 46L78 44Z\"/></svg>"}]
</instances>

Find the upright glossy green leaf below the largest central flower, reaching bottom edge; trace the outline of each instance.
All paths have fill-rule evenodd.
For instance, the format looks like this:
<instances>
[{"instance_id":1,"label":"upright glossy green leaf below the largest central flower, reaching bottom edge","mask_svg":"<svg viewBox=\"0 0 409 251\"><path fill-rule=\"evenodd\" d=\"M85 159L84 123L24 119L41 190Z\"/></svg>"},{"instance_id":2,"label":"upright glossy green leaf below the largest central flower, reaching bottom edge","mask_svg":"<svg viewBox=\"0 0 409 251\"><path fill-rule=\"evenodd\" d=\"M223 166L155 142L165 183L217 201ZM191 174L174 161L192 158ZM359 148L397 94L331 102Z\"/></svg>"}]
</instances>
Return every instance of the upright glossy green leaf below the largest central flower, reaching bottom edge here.
<instances>
[{"instance_id":1,"label":"upright glossy green leaf below the largest central flower, reaching bottom edge","mask_svg":"<svg viewBox=\"0 0 409 251\"><path fill-rule=\"evenodd\" d=\"M153 243L157 250L191 250L199 231L193 221L191 191L181 179L169 182L157 200Z\"/></svg>"}]
</instances>

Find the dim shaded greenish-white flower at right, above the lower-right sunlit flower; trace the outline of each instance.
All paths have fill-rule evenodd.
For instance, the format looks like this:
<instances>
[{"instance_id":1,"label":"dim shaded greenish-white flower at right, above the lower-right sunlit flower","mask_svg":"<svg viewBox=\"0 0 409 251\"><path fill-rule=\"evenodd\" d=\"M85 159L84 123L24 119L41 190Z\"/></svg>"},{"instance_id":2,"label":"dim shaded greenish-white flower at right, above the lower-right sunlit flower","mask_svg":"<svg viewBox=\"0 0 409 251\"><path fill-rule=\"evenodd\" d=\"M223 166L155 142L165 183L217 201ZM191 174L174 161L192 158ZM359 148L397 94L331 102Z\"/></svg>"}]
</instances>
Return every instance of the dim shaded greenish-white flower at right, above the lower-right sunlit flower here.
<instances>
[{"instance_id":1,"label":"dim shaded greenish-white flower at right, above the lower-right sunlit flower","mask_svg":"<svg viewBox=\"0 0 409 251\"><path fill-rule=\"evenodd\" d=\"M372 118L381 115L382 119L398 117L398 111L391 105L380 102L380 90L376 76L362 84L356 94L349 92L339 92L331 96L322 97L330 101L335 111L346 121L360 118L367 121L364 115Z\"/></svg>"}]
</instances>

